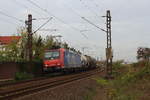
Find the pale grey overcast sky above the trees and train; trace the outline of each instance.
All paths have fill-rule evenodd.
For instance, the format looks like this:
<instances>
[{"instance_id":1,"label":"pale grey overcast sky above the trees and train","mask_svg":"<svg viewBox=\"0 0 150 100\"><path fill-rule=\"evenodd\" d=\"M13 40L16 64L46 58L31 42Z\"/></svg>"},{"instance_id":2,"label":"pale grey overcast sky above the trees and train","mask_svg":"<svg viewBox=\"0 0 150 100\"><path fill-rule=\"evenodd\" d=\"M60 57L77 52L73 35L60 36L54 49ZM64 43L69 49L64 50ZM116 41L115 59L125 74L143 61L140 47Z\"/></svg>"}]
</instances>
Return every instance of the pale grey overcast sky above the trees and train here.
<instances>
[{"instance_id":1,"label":"pale grey overcast sky above the trees and train","mask_svg":"<svg viewBox=\"0 0 150 100\"><path fill-rule=\"evenodd\" d=\"M66 41L70 46L79 50L86 47L86 54L104 59L106 33L81 17L105 29L105 18L101 16L106 15L106 10L110 10L114 60L136 61L137 48L150 47L149 5L150 0L1 0L0 35L17 33L17 29L24 26L19 20L26 20L29 13L34 18L52 16L53 19L44 28L57 29L57 31L38 32L38 34L43 37L52 34L62 35L62 41ZM45 21L33 21L33 30ZM81 33L82 30L87 31Z\"/></svg>"}]
</instances>

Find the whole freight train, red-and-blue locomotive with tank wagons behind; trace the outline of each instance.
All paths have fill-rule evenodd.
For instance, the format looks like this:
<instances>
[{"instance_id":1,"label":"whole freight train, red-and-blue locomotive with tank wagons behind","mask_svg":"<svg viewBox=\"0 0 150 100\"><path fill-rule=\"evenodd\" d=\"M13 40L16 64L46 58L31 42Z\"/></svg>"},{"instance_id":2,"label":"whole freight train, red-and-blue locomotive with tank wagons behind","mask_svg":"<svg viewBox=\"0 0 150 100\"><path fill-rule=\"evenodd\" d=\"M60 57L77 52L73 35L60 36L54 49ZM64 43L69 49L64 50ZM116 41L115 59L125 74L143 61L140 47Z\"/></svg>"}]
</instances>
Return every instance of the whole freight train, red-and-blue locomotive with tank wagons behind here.
<instances>
[{"instance_id":1,"label":"whole freight train, red-and-blue locomotive with tank wagons behind","mask_svg":"<svg viewBox=\"0 0 150 100\"><path fill-rule=\"evenodd\" d=\"M68 49L46 50L44 54L43 70L45 72L93 69L95 67L96 60L94 58Z\"/></svg>"}]
</instances>

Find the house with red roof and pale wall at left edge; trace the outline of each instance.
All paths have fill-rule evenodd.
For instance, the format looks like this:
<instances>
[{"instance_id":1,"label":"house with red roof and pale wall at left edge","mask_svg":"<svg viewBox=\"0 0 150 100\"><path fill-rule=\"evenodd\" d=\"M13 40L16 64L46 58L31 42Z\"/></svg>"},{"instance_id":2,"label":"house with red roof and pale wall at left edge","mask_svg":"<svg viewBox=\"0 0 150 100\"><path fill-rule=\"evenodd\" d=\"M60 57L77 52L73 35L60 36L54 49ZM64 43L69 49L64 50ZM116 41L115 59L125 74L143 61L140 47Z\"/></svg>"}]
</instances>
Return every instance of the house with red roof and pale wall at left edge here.
<instances>
[{"instance_id":1,"label":"house with red roof and pale wall at left edge","mask_svg":"<svg viewBox=\"0 0 150 100\"><path fill-rule=\"evenodd\" d=\"M14 41L19 43L21 36L0 36L0 50L5 50L5 46L11 44Z\"/></svg>"}]
</instances>

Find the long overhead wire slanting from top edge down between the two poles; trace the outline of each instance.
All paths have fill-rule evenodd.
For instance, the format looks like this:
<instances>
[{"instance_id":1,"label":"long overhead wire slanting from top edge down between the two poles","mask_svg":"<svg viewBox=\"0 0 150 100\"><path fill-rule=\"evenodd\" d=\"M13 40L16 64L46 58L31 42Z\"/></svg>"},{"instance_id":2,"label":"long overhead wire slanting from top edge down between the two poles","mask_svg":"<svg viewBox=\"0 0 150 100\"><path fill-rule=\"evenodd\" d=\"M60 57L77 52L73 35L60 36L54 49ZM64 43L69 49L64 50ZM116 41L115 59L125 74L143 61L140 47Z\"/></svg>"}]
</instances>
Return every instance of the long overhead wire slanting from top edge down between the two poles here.
<instances>
[{"instance_id":1,"label":"long overhead wire slanting from top edge down between the two poles","mask_svg":"<svg viewBox=\"0 0 150 100\"><path fill-rule=\"evenodd\" d=\"M50 16L56 18L58 21L62 22L65 25L68 25L70 28L72 28L73 30L79 31L79 29L75 28L74 26L69 25L68 23L64 22L63 20L61 20L60 18L58 18L57 16L55 16L54 14L50 13L49 11L47 11L46 9L40 7L38 4L36 4L35 2L31 1L31 0L27 0L28 2L30 2L31 4L33 4L34 6L36 6L37 8L41 9L42 11L46 12L47 14L49 14ZM83 33L82 33L83 35ZM83 35L85 37L85 35ZM85 37L87 38L87 37Z\"/></svg>"}]
</instances>

